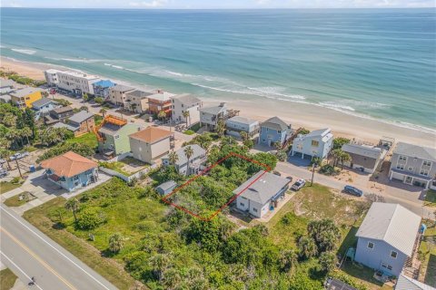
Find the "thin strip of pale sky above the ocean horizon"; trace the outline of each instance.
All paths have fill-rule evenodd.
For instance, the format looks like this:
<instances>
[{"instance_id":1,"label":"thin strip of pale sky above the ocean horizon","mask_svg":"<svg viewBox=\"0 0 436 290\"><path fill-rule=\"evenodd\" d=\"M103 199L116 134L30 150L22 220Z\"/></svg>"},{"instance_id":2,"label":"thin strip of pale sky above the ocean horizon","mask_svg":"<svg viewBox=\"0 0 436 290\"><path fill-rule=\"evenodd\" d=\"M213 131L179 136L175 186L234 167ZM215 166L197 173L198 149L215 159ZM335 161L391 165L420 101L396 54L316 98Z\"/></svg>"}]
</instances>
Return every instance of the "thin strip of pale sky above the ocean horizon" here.
<instances>
[{"instance_id":1,"label":"thin strip of pale sky above the ocean horizon","mask_svg":"<svg viewBox=\"0 0 436 290\"><path fill-rule=\"evenodd\" d=\"M435 7L435 0L2 0L4 7L235 9Z\"/></svg>"}]
</instances>

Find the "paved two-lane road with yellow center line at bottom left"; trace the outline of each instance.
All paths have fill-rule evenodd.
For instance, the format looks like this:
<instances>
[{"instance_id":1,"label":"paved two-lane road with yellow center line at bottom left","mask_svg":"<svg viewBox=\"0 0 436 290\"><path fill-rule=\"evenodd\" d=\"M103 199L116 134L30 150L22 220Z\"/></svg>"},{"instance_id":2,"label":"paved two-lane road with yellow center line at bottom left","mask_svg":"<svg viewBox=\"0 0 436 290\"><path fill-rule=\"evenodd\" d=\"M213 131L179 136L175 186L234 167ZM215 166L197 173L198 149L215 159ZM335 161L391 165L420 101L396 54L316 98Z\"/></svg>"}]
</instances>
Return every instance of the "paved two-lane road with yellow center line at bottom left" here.
<instances>
[{"instance_id":1,"label":"paved two-lane road with yellow center line at bottom left","mask_svg":"<svg viewBox=\"0 0 436 290\"><path fill-rule=\"evenodd\" d=\"M0 218L1 262L22 281L30 281L35 276L36 285L32 288L116 289L3 204L0 205Z\"/></svg>"}]
</instances>

